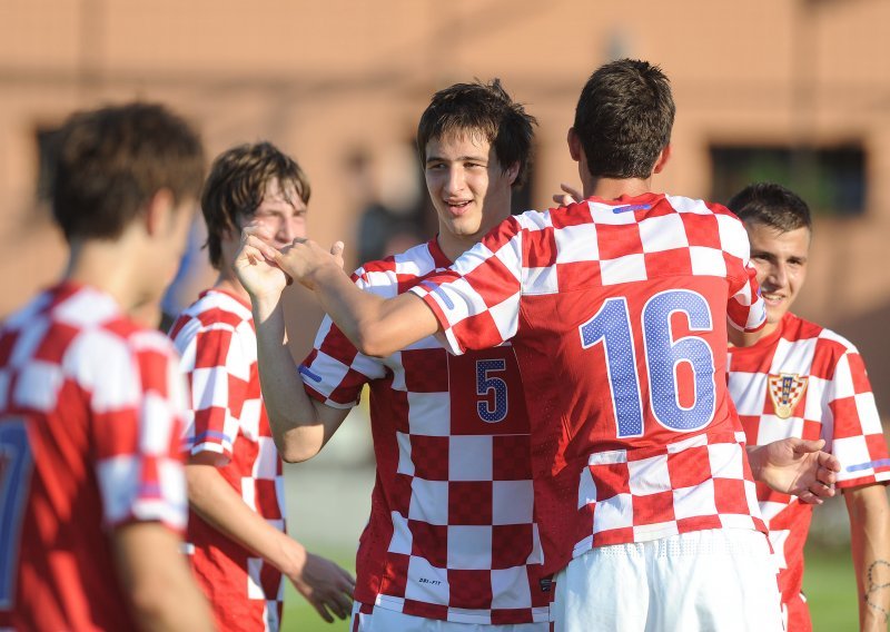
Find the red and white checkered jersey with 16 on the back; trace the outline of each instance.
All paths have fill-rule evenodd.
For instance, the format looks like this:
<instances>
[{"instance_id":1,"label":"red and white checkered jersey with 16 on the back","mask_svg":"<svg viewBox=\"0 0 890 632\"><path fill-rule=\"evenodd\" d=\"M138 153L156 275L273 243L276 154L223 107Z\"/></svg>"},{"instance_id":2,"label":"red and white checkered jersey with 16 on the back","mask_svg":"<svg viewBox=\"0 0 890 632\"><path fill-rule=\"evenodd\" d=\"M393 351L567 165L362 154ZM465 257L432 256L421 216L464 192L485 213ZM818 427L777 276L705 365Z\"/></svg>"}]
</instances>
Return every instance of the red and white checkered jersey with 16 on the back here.
<instances>
[{"instance_id":1,"label":"red and white checkered jersey with 16 on the back","mask_svg":"<svg viewBox=\"0 0 890 632\"><path fill-rule=\"evenodd\" d=\"M591 546L763 529L724 373L728 316L764 318L748 257L723 207L591 198L508 218L412 288L454 353L512 339L548 571Z\"/></svg>"}]
</instances>

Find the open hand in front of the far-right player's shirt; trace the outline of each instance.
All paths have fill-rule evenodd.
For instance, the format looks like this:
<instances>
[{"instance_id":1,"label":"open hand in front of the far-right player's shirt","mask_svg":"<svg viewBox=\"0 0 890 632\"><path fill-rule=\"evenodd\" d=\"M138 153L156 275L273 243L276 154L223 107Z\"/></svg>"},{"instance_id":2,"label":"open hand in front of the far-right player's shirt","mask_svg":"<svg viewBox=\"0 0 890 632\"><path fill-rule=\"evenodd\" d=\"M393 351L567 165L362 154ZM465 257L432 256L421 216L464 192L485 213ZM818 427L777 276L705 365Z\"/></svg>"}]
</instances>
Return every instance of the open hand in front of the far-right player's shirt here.
<instances>
[{"instance_id":1,"label":"open hand in front of the far-right player's shirt","mask_svg":"<svg viewBox=\"0 0 890 632\"><path fill-rule=\"evenodd\" d=\"M750 447L748 458L758 480L777 492L798 496L808 504L822 504L834 495L838 457L822 452L824 440L797 437Z\"/></svg>"}]
</instances>

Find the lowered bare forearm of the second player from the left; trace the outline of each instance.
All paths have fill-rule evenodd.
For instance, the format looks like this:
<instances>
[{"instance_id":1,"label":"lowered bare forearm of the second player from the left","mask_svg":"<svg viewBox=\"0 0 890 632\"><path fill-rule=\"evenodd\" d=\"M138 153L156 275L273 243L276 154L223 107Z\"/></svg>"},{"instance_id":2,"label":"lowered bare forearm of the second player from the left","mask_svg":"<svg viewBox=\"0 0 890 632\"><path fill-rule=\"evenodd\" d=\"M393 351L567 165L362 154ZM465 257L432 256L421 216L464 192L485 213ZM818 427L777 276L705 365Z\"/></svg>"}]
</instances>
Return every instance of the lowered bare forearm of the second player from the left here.
<instances>
[{"instance_id":1,"label":"lowered bare forearm of the second player from the left","mask_svg":"<svg viewBox=\"0 0 890 632\"><path fill-rule=\"evenodd\" d=\"M214 465L186 466L191 507L226 537L286 574L301 567L306 550L254 512Z\"/></svg>"}]
</instances>

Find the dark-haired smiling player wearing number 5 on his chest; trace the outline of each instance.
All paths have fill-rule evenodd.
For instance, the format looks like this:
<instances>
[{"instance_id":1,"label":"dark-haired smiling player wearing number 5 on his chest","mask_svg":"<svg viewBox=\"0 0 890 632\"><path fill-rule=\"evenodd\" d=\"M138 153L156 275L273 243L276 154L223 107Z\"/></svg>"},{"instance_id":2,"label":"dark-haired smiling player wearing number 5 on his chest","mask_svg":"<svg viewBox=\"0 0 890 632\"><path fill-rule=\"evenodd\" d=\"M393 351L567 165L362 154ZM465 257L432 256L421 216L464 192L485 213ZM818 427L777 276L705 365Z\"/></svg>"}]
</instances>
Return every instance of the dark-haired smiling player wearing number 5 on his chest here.
<instances>
[{"instance_id":1,"label":"dark-haired smiling player wearing number 5 on his chest","mask_svg":"<svg viewBox=\"0 0 890 632\"><path fill-rule=\"evenodd\" d=\"M405 293L508 217L534 122L497 80L437 92L417 145L438 236L366 263L356 285L385 297ZM283 345L284 274L265 263L237 265L259 323L263 392L286 460L316 454L369 385L377 480L357 555L353 630L548 630L528 416L512 347L457 357L429 336L372 357L327 318L300 381Z\"/></svg>"}]
</instances>

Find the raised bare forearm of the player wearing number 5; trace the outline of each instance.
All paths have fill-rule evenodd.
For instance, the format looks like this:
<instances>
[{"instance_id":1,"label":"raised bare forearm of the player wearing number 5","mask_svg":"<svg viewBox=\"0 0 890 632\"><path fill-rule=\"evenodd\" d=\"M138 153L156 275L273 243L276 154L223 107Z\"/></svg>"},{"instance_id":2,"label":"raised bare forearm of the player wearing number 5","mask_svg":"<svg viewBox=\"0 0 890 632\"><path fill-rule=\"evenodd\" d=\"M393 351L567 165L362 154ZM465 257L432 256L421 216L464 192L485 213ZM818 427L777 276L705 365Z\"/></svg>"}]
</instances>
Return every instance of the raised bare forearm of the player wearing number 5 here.
<instances>
[{"instance_id":1,"label":"raised bare forearm of the player wearing number 5","mask_svg":"<svg viewBox=\"0 0 890 632\"><path fill-rule=\"evenodd\" d=\"M329 438L318 415L322 404L306 394L294 366L280 296L254 298L253 310L259 384L275 445L288 463L306 461Z\"/></svg>"}]
</instances>

